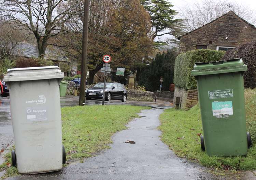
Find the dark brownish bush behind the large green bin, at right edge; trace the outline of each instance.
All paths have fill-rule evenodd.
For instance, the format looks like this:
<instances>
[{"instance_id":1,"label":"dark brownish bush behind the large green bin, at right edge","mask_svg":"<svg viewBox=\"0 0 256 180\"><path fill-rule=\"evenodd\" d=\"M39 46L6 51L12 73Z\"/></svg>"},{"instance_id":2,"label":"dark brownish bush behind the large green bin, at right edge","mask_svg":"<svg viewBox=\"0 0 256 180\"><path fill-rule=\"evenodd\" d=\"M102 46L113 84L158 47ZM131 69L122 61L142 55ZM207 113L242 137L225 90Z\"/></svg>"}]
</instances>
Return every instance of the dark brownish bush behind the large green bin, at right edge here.
<instances>
[{"instance_id":1,"label":"dark brownish bush behind the large green bin, at right edge","mask_svg":"<svg viewBox=\"0 0 256 180\"><path fill-rule=\"evenodd\" d=\"M246 88L256 87L256 41L242 44L241 46L229 50L223 60L242 58L244 64L247 65L248 71L244 73L244 86Z\"/></svg>"}]
</instances>

